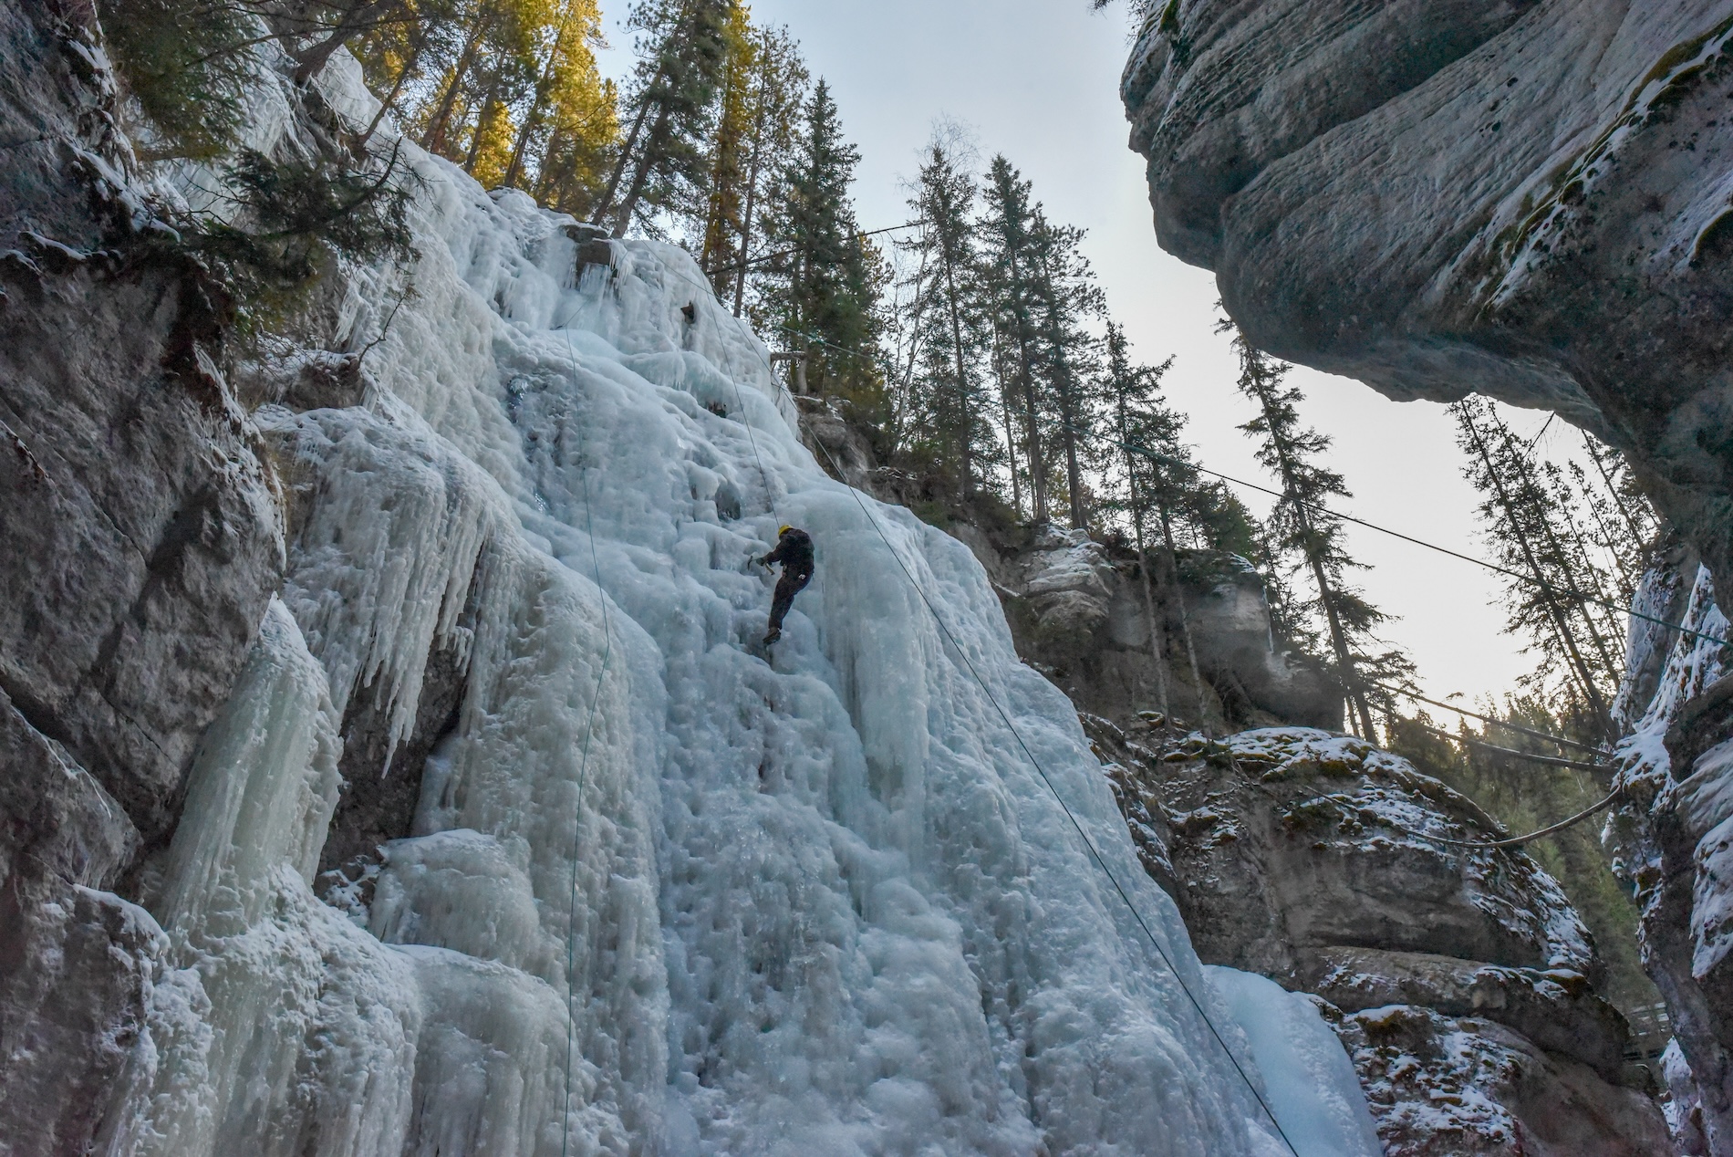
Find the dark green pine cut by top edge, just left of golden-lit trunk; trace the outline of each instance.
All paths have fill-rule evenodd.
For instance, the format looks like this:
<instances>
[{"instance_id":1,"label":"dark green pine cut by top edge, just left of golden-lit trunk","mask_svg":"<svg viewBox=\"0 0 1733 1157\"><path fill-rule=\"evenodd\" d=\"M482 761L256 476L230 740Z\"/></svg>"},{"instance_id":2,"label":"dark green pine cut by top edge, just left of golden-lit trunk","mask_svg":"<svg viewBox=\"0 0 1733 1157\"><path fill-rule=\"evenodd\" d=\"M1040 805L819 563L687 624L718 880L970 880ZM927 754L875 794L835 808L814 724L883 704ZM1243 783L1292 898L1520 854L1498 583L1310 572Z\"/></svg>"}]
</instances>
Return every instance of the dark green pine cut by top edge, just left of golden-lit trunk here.
<instances>
[{"instance_id":1,"label":"dark green pine cut by top edge, just left of golden-lit trunk","mask_svg":"<svg viewBox=\"0 0 1733 1157\"><path fill-rule=\"evenodd\" d=\"M613 236L657 212L690 212L705 187L717 85L728 59L728 26L738 0L639 0L631 26L645 57L627 99L633 125L603 191L598 217Z\"/></svg>"}]
</instances>

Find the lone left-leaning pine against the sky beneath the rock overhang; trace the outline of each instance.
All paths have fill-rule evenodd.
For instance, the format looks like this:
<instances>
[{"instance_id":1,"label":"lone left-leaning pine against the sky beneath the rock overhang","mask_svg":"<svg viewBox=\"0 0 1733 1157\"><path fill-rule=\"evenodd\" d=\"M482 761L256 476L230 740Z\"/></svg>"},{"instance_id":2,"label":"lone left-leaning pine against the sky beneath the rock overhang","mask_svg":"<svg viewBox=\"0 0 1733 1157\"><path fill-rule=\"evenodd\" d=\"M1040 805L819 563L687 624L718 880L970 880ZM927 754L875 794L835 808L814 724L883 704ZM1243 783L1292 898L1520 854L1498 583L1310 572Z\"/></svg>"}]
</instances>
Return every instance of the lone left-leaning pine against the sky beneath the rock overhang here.
<instances>
[{"instance_id":1,"label":"lone left-leaning pine against the sky beneath the rock overhang","mask_svg":"<svg viewBox=\"0 0 1733 1157\"><path fill-rule=\"evenodd\" d=\"M1222 328L1234 328L1222 323ZM1336 657L1336 678L1359 722L1360 734L1374 739L1371 703L1378 697L1369 677L1405 680L1412 666L1397 652L1371 654L1374 628L1385 623L1378 607L1352 590L1345 576L1360 567L1347 552L1341 519L1327 513L1329 498L1352 498L1334 470L1317 463L1329 448L1329 437L1300 422L1303 394L1284 385L1288 366L1272 363L1243 331L1234 337L1239 352L1239 392L1258 406L1258 416L1239 427L1258 439L1258 461L1281 482L1282 498L1270 513L1269 552L1275 560L1291 560L1289 569L1312 576L1315 598L1300 604L1317 614ZM1386 709L1390 704L1385 704Z\"/></svg>"}]
</instances>

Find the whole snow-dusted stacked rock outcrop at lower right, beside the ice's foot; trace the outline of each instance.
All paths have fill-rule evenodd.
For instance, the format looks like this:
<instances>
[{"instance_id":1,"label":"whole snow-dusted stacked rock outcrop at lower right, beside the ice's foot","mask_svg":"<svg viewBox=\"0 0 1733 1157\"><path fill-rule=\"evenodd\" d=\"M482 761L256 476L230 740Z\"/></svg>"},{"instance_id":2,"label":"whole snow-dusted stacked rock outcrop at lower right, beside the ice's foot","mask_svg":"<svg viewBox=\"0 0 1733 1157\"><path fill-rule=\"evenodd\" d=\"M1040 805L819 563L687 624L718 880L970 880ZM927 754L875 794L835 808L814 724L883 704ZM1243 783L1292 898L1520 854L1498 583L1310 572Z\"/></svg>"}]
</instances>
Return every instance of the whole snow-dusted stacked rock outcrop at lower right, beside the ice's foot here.
<instances>
[{"instance_id":1,"label":"whole snow-dusted stacked rock outcrop at lower right, beside the ice's foot","mask_svg":"<svg viewBox=\"0 0 1733 1157\"><path fill-rule=\"evenodd\" d=\"M1405 760L1310 729L1092 723L1146 869L1213 964L1321 999L1399 1157L1669 1150L1558 883Z\"/></svg>"}]
</instances>

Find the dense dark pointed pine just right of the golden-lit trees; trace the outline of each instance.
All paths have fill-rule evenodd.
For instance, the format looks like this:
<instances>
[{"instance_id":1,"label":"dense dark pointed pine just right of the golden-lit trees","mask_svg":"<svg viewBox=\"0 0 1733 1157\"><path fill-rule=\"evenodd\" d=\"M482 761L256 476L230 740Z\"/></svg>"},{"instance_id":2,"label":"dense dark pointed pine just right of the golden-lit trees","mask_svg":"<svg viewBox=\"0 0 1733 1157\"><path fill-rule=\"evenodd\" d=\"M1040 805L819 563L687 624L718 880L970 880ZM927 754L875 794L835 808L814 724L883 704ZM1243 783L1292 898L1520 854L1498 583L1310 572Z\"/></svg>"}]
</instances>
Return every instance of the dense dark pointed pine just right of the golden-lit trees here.
<instances>
[{"instance_id":1,"label":"dense dark pointed pine just right of the golden-lit trees","mask_svg":"<svg viewBox=\"0 0 1733 1157\"><path fill-rule=\"evenodd\" d=\"M868 423L880 423L884 274L849 201L858 163L860 151L842 139L830 85L820 80L766 226L775 257L763 274L756 319L806 357L809 389L842 397Z\"/></svg>"}]
</instances>

